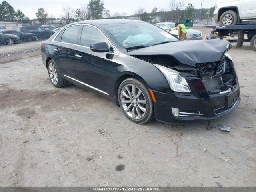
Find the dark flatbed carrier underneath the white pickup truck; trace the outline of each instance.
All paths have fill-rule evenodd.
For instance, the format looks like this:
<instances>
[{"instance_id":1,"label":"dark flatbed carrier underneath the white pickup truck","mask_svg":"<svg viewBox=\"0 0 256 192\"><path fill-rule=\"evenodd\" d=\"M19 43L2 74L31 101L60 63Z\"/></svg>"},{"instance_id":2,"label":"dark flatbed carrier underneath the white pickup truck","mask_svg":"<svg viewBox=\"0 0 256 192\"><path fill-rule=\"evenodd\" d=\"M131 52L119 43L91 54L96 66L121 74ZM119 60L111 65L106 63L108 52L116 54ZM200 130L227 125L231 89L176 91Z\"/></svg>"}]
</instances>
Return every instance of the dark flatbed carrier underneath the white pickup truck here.
<instances>
[{"instance_id":1,"label":"dark flatbed carrier underneath the white pickup truck","mask_svg":"<svg viewBox=\"0 0 256 192\"><path fill-rule=\"evenodd\" d=\"M244 42L244 35L247 34L248 40L251 43L251 47L256 51L256 23L244 23L240 25L232 26L212 26L212 33L218 34L219 38L224 38L224 36L231 36L238 34L238 40L236 43L236 48L242 47Z\"/></svg>"}]
</instances>

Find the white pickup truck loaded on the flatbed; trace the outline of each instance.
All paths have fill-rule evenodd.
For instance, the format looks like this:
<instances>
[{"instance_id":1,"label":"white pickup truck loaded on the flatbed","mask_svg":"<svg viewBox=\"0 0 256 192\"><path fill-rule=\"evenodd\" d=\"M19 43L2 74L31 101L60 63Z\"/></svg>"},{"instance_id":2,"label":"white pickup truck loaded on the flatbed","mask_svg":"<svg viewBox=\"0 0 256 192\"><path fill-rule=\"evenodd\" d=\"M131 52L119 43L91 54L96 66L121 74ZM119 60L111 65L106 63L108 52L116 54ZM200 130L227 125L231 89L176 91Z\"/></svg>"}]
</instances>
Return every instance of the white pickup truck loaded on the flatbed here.
<instances>
[{"instance_id":1,"label":"white pickup truck loaded on the flatbed","mask_svg":"<svg viewBox=\"0 0 256 192\"><path fill-rule=\"evenodd\" d=\"M256 0L220 0L213 15L224 26L256 21Z\"/></svg>"}]
</instances>

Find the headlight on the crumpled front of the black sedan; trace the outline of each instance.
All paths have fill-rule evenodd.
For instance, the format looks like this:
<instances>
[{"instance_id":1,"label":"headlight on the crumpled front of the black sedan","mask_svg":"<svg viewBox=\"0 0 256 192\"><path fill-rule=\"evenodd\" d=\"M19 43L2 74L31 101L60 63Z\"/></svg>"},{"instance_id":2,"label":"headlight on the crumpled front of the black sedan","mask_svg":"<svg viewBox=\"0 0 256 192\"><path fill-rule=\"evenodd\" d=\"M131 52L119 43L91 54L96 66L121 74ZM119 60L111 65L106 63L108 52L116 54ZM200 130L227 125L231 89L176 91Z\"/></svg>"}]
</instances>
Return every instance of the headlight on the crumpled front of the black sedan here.
<instances>
[{"instance_id":1,"label":"headlight on the crumpled front of the black sedan","mask_svg":"<svg viewBox=\"0 0 256 192\"><path fill-rule=\"evenodd\" d=\"M191 92L188 82L184 77L180 76L179 72L157 64L154 64L154 66L156 66L162 72L162 74L164 74L170 88L173 91L182 93Z\"/></svg>"}]
</instances>

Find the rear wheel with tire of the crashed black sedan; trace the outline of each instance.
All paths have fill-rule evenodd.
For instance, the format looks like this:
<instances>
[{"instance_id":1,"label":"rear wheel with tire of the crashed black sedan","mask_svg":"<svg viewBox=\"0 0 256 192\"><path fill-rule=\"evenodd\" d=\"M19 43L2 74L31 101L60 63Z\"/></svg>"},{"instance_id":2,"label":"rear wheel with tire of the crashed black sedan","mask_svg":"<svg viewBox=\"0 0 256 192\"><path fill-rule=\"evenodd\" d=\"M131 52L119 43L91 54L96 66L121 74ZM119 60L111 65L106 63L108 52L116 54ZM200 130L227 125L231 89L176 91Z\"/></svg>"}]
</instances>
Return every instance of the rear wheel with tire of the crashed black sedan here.
<instances>
[{"instance_id":1,"label":"rear wheel with tire of the crashed black sedan","mask_svg":"<svg viewBox=\"0 0 256 192\"><path fill-rule=\"evenodd\" d=\"M57 70L56 64L54 60L50 60L48 62L48 75L50 78L50 81L54 87L61 88L68 84L68 81L60 75L60 73Z\"/></svg>"}]
</instances>

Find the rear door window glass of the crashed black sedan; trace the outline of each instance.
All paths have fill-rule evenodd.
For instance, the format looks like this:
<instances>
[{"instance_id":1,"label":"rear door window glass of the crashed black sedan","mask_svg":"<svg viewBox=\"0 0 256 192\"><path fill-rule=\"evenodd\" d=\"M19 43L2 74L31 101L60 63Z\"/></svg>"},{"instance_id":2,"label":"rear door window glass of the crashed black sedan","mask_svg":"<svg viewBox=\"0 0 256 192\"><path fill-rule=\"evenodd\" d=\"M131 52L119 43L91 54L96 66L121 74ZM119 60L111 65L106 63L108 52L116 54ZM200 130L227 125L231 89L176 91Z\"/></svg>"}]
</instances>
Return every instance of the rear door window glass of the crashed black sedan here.
<instances>
[{"instance_id":1,"label":"rear door window glass of the crashed black sedan","mask_svg":"<svg viewBox=\"0 0 256 192\"><path fill-rule=\"evenodd\" d=\"M66 28L66 30L62 34L61 42L77 44L79 30L80 25Z\"/></svg>"}]
</instances>

